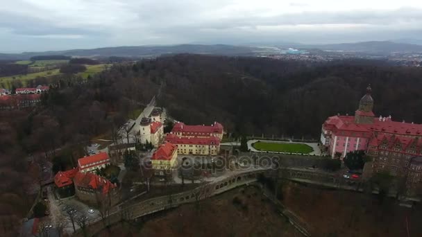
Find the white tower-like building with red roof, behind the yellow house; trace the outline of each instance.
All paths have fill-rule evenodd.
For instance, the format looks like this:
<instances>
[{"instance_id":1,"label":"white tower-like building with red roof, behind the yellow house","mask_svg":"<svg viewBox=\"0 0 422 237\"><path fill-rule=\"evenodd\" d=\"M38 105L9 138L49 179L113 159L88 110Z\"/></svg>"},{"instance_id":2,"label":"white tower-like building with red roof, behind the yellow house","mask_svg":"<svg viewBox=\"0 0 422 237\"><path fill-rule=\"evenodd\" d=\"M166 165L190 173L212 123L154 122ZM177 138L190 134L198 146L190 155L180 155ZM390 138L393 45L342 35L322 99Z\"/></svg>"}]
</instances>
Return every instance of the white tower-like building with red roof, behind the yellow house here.
<instances>
[{"instance_id":1,"label":"white tower-like building with red roof, behind the yellow house","mask_svg":"<svg viewBox=\"0 0 422 237\"><path fill-rule=\"evenodd\" d=\"M164 126L160 121L152 121L151 118L142 118L140 122L140 142L151 142L157 148L164 138Z\"/></svg>"}]
</instances>

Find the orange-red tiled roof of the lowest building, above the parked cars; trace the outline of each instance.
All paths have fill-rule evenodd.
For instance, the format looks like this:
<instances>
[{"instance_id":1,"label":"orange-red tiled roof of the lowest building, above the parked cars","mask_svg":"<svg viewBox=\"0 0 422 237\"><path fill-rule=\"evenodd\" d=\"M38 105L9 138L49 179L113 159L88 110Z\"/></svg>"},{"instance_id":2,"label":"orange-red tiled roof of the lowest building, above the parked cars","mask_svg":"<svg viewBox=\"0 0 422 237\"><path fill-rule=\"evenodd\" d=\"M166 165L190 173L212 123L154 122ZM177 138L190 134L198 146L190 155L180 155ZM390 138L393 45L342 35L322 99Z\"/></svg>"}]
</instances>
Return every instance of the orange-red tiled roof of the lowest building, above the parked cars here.
<instances>
[{"instance_id":1,"label":"orange-red tiled roof of the lowest building, above the parked cars","mask_svg":"<svg viewBox=\"0 0 422 237\"><path fill-rule=\"evenodd\" d=\"M110 180L93 173L78 172L75 175L74 182L76 186L83 188L99 189L103 194L116 187L116 184L113 184Z\"/></svg>"}]
</instances>

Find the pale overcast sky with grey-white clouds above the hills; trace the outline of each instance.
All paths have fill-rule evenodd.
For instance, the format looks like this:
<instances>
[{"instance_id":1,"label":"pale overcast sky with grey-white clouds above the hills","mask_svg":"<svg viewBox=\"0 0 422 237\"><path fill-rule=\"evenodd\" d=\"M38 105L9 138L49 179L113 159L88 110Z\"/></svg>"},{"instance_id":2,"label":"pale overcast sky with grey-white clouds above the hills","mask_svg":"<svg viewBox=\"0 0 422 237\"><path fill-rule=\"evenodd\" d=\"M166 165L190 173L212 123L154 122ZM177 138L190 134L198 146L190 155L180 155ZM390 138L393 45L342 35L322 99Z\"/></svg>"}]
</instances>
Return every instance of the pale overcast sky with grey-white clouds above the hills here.
<instances>
[{"instance_id":1,"label":"pale overcast sky with grey-white clouds above the hills","mask_svg":"<svg viewBox=\"0 0 422 237\"><path fill-rule=\"evenodd\" d=\"M3 0L0 52L422 39L422 0Z\"/></svg>"}]
</instances>

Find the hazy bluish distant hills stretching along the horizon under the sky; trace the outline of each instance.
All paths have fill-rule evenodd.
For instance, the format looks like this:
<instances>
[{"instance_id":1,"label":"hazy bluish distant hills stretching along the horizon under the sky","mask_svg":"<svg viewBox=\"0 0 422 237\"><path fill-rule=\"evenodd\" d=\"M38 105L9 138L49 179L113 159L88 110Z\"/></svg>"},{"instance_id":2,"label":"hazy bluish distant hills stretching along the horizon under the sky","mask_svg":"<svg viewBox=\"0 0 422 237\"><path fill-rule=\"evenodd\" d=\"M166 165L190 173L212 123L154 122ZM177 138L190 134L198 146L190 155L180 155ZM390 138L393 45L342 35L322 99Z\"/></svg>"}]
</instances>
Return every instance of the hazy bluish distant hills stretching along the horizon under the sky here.
<instances>
[{"instance_id":1,"label":"hazy bluish distant hills stretching along the horizon under the sky","mask_svg":"<svg viewBox=\"0 0 422 237\"><path fill-rule=\"evenodd\" d=\"M72 49L67 51L45 51L25 53L0 53L0 60L29 60L37 55L65 55L71 57L85 58L107 58L110 56L129 58L148 58L165 54L195 53L209 55L257 55L261 49L257 46L268 44L253 43L252 46L233 46L228 44L178 44L168 46L119 46L99 49ZM355 53L370 53L377 55L388 55L390 53L422 53L422 45L406 44L391 41L370 41L344 44L296 44L280 42L272 43L280 47L295 47L298 49L319 49L323 51L348 51ZM276 53L276 52L275 52Z\"/></svg>"}]
</instances>

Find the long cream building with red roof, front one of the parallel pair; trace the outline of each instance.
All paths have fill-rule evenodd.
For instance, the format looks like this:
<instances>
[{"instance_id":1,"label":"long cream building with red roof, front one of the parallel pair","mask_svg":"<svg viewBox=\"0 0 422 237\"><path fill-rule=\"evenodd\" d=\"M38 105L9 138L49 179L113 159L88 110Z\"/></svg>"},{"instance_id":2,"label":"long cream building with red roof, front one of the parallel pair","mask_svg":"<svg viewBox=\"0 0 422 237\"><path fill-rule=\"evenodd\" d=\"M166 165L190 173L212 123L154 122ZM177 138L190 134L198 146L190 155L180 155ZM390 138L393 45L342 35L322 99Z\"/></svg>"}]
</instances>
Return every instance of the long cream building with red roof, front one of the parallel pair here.
<instances>
[{"instance_id":1,"label":"long cream building with red roof, front one of the parallel pair","mask_svg":"<svg viewBox=\"0 0 422 237\"><path fill-rule=\"evenodd\" d=\"M218 155L220 139L218 137L178 137L167 134L165 141L177 145L178 154L183 155Z\"/></svg>"}]
</instances>

